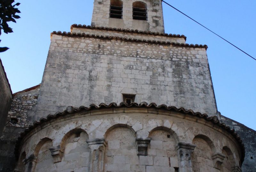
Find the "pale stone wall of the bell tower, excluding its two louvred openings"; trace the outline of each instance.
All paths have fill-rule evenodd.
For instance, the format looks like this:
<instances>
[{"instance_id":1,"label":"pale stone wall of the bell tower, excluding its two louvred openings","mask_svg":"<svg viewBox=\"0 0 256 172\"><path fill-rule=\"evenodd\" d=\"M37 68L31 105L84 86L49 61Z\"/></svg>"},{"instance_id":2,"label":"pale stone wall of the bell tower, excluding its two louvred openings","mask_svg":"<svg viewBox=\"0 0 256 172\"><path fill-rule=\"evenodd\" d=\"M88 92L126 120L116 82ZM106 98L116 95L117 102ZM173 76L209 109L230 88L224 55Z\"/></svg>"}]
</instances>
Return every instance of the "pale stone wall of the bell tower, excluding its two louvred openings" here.
<instances>
[{"instance_id":1,"label":"pale stone wall of the bell tower, excluding its two louvred openings","mask_svg":"<svg viewBox=\"0 0 256 172\"><path fill-rule=\"evenodd\" d=\"M161 0L140 0L147 4L148 20L132 19L132 3L138 0L123 0L123 18L109 18L110 0L94 0L92 25L152 31L164 33L164 18Z\"/></svg>"}]
</instances>

